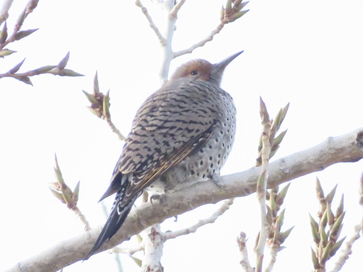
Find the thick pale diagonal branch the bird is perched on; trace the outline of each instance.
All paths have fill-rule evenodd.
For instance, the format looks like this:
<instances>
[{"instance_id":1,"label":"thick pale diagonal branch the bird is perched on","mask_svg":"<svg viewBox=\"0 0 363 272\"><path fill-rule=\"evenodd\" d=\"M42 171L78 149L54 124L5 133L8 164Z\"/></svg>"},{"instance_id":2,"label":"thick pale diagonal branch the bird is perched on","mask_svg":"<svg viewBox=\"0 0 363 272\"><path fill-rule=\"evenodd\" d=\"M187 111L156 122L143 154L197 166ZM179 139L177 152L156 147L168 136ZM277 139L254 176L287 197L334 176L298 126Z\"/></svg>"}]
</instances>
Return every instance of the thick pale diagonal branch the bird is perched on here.
<instances>
[{"instance_id":1,"label":"thick pale diagonal branch the bird is perched on","mask_svg":"<svg viewBox=\"0 0 363 272\"><path fill-rule=\"evenodd\" d=\"M293 180L294 178L321 171L338 162L355 162L363 158L363 128L350 133L329 137L321 144L270 162L268 188ZM223 189L211 181L197 183L186 189L166 195L163 204L144 203L131 211L122 228L100 251L140 233L152 224L162 222L174 215L185 213L207 203L216 203L223 199L242 197L256 191L256 182L260 167L253 167L244 172L221 176ZM84 258L102 226L87 231L74 238L62 241L27 260L17 263L7 272L49 272L58 271Z\"/></svg>"}]
</instances>

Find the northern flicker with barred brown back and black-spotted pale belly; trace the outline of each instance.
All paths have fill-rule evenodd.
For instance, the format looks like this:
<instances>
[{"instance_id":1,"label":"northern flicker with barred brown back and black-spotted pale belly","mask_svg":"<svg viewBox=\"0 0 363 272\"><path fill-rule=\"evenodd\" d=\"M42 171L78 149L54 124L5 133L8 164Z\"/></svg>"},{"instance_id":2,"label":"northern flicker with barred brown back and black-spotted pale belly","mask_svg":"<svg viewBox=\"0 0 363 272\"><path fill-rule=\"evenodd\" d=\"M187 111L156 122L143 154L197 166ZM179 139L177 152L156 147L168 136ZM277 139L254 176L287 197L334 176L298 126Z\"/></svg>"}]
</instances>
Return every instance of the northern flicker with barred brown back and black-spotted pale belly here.
<instances>
[{"instance_id":1,"label":"northern flicker with barred brown back and black-spotted pale belly","mask_svg":"<svg viewBox=\"0 0 363 272\"><path fill-rule=\"evenodd\" d=\"M236 108L220 83L242 52L216 64L195 59L181 65L142 104L100 199L116 193L110 216L85 260L118 231L144 190L173 191L216 178L236 133Z\"/></svg>"}]
</instances>

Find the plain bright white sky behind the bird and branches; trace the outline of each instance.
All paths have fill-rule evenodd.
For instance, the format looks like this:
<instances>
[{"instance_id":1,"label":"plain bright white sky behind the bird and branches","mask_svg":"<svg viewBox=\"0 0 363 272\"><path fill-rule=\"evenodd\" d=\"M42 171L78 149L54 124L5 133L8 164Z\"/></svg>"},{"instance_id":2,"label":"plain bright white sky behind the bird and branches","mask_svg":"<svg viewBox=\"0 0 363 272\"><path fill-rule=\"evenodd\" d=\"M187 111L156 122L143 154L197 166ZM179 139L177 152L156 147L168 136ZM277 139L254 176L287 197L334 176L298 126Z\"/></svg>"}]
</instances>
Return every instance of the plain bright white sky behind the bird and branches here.
<instances>
[{"instance_id":1,"label":"plain bright white sky behind the bird and branches","mask_svg":"<svg viewBox=\"0 0 363 272\"><path fill-rule=\"evenodd\" d=\"M8 29L26 3L14 1ZM161 28L162 12L147 0L143 3ZM178 16L173 49L185 49L207 36L219 23L222 4L219 0L187 1ZM290 102L282 125L289 130L276 158L363 126L363 2L252 0L246 8L251 10L225 26L212 42L171 64L173 71L192 58L218 62L245 50L227 67L222 83L238 112L236 142L222 174L240 172L254 163L261 131L260 95L271 116ZM0 60L0 73L24 57L20 72L55 65L70 50L67 68L86 76L40 75L31 78L34 87L11 78L0 80L0 240L6 252L0 271L83 231L73 213L46 186L55 181L54 152L66 183L73 188L81 180L78 206L91 226L106 221L97 201L109 184L123 143L105 121L84 107L89 103L81 90L92 91L95 71L101 90L111 89L111 116L123 134L129 132L140 104L159 87L158 40L134 1L40 1L23 25L23 30L32 28L40 29L8 45L18 53ZM312 269L308 212L316 215L318 210L316 176L325 193L339 184L333 211L344 193L347 213L341 236L349 237L352 227L362 221L358 205L362 170L362 161L338 164L292 182L284 203L283 230L295 228L284 244L287 249L278 254L274 271ZM112 201L112 197L106 201L108 207ZM187 227L215 209L213 205L200 207L180 215L177 223L167 220L162 228ZM253 261L258 218L254 194L236 199L214 224L166 242L162 265L175 272L241 271L236 236L246 232ZM342 271L362 269L362 252L360 239ZM125 271L138 271L130 257L122 255L121 260ZM113 256L103 252L63 271L106 269L116 268Z\"/></svg>"}]
</instances>

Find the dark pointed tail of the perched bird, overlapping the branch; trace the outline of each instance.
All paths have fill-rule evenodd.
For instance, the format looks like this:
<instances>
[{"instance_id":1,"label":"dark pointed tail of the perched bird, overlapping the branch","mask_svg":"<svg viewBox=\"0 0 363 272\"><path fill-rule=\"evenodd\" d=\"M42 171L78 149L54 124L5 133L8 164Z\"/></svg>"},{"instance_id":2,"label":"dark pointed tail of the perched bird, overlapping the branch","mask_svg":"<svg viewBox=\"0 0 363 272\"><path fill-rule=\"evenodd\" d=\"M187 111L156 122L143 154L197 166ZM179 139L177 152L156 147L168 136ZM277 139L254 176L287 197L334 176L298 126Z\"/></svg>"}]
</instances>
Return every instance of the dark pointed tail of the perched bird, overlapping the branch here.
<instances>
[{"instance_id":1,"label":"dark pointed tail of the perched bird, overlapping the branch","mask_svg":"<svg viewBox=\"0 0 363 272\"><path fill-rule=\"evenodd\" d=\"M136 197L131 198L129 202L123 203L122 199L125 195L126 188L121 188L116 193L115 202L112 205L111 213L96 242L94 243L89 254L83 259L88 260L107 240L109 240L121 227L129 214Z\"/></svg>"}]
</instances>

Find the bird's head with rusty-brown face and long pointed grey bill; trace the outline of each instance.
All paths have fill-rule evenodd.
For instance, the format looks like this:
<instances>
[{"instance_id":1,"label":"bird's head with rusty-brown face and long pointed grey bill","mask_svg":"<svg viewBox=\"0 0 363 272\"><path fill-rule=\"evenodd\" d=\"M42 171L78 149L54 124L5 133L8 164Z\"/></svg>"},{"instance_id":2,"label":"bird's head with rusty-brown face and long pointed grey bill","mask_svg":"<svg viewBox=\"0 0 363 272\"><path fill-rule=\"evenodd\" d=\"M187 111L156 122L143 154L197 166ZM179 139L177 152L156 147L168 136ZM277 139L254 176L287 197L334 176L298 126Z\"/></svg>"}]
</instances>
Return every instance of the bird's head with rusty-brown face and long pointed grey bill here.
<instances>
[{"instance_id":1,"label":"bird's head with rusty-brown face and long pointed grey bill","mask_svg":"<svg viewBox=\"0 0 363 272\"><path fill-rule=\"evenodd\" d=\"M178 79L213 81L220 85L225 67L243 51L231 55L219 63L212 64L205 59L192 59L179 66L170 78L170 82Z\"/></svg>"}]
</instances>

